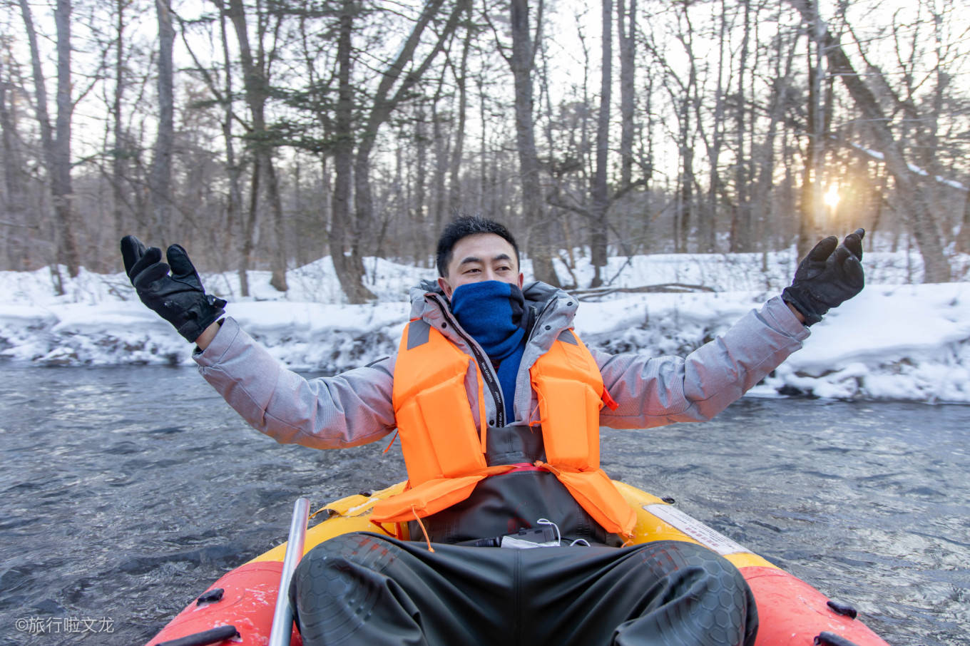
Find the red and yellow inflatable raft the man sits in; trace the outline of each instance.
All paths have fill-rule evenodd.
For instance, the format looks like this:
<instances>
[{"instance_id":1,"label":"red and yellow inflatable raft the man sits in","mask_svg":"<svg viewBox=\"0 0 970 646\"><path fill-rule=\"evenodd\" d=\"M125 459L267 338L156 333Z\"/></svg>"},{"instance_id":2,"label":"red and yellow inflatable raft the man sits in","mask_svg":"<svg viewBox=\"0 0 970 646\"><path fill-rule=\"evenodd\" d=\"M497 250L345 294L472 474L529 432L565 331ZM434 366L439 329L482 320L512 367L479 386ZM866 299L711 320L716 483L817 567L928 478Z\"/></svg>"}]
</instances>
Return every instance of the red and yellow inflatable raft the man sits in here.
<instances>
[{"instance_id":1,"label":"red and yellow inflatable raft the man sits in","mask_svg":"<svg viewBox=\"0 0 970 646\"><path fill-rule=\"evenodd\" d=\"M673 539L699 543L741 570L758 602L760 627L756 646L887 646L886 641L857 620L851 606L826 598L809 584L673 505L630 485L616 485L636 509L634 542ZM322 512L325 520L307 530L304 553L340 533L382 529L394 534L395 527L380 527L371 521L371 510L374 502L403 489L404 483L400 483L324 506L314 516ZM284 543L228 572L193 599L147 646L268 644L285 550ZM282 636L285 638L285 633ZM294 627L290 644L302 643Z\"/></svg>"}]
</instances>

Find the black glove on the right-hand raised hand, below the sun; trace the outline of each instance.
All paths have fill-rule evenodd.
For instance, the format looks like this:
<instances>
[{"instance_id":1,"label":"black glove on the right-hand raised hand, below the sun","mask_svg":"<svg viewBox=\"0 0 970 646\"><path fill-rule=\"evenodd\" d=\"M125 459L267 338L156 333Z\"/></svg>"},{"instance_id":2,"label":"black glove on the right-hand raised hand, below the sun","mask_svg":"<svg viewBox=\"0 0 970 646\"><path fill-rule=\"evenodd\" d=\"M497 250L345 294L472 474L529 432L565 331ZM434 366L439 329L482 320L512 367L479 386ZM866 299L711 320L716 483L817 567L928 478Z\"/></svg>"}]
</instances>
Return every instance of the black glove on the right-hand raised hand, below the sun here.
<instances>
[{"instance_id":1,"label":"black glove on the right-hand raised hand, below the sun","mask_svg":"<svg viewBox=\"0 0 970 646\"><path fill-rule=\"evenodd\" d=\"M842 305L862 291L863 236L865 230L856 229L841 244L835 236L829 236L799 263L792 286L782 291L782 299L801 312L805 325L818 323L829 307Z\"/></svg>"}]
</instances>

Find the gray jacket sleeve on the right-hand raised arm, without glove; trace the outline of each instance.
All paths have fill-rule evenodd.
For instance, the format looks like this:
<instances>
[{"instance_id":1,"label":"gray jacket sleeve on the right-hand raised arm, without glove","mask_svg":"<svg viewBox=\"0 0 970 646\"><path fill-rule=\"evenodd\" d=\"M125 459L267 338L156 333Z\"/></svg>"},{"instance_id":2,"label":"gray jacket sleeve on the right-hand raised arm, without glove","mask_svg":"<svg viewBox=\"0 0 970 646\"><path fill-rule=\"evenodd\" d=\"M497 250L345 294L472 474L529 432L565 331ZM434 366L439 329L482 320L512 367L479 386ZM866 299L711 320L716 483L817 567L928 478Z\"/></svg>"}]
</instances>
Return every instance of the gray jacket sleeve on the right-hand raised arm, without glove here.
<instances>
[{"instance_id":1,"label":"gray jacket sleeve on the right-hand raised arm, without glove","mask_svg":"<svg viewBox=\"0 0 970 646\"><path fill-rule=\"evenodd\" d=\"M611 355L591 348L603 385L619 404L599 419L615 429L645 429L714 417L777 368L809 335L776 297L724 335L686 357Z\"/></svg>"}]
</instances>

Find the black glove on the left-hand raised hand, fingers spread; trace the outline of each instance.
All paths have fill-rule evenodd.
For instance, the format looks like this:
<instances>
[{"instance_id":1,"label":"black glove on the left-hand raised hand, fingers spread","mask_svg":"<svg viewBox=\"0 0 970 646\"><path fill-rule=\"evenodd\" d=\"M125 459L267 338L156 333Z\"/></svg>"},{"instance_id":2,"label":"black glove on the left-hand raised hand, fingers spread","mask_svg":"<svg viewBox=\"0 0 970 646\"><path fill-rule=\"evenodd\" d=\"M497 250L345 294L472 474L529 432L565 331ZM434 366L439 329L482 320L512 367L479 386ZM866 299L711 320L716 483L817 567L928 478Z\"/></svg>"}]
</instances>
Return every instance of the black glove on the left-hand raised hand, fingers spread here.
<instances>
[{"instance_id":1,"label":"black glove on the left-hand raised hand, fingers spread","mask_svg":"<svg viewBox=\"0 0 970 646\"><path fill-rule=\"evenodd\" d=\"M134 236L121 239L124 270L142 303L174 325L178 334L194 342L225 313L226 302L206 294L185 249L173 244L166 255L168 265L162 262L162 250L157 246L146 249Z\"/></svg>"}]
</instances>

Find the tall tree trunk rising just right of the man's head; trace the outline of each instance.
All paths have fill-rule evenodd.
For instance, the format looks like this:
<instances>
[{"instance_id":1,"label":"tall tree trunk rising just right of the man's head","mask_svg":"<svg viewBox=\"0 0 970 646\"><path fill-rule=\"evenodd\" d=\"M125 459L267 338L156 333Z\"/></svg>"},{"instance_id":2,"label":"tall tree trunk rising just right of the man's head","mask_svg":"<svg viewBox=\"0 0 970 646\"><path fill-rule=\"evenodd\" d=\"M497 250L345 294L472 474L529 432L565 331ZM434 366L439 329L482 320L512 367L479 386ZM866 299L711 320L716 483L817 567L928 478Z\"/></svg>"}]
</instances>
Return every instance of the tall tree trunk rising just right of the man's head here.
<instances>
[{"instance_id":1,"label":"tall tree trunk rising just right of the man's head","mask_svg":"<svg viewBox=\"0 0 970 646\"><path fill-rule=\"evenodd\" d=\"M523 217L532 231L530 255L535 279L559 287L552 264L550 223L542 205L542 181L533 125L533 38L529 28L529 0L511 0L512 55L508 60L515 79L515 140L519 153Z\"/></svg>"}]
</instances>

